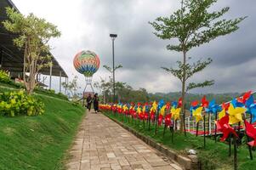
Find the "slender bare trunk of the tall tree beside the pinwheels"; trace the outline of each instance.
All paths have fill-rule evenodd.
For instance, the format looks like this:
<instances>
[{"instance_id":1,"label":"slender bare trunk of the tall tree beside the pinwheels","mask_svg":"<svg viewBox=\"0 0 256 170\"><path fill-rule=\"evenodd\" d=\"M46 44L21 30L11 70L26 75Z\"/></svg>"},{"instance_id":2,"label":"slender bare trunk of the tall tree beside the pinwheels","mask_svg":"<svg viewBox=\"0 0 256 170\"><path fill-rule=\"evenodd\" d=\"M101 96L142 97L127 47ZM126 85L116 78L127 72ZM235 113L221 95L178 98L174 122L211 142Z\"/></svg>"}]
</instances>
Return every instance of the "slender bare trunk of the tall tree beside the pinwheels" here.
<instances>
[{"instance_id":1,"label":"slender bare trunk of the tall tree beside the pinwheels","mask_svg":"<svg viewBox=\"0 0 256 170\"><path fill-rule=\"evenodd\" d=\"M185 64L186 64L186 52L185 49L183 50L183 76L182 76L182 91L181 91L181 97L182 97L182 106L181 106L181 119L180 119L180 132L184 131L184 116L182 114L185 114Z\"/></svg>"}]
</instances>

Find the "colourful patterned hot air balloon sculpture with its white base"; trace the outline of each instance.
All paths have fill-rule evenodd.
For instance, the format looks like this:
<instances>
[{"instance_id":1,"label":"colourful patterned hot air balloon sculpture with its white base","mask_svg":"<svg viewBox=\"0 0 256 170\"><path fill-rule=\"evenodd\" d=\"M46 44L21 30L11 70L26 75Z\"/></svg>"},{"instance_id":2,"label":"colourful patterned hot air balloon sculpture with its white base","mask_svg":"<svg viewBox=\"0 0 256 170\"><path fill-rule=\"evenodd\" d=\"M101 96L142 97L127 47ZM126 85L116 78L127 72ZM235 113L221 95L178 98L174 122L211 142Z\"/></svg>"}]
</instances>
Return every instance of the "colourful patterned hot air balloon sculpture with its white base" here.
<instances>
[{"instance_id":1,"label":"colourful patterned hot air balloon sculpture with its white base","mask_svg":"<svg viewBox=\"0 0 256 170\"><path fill-rule=\"evenodd\" d=\"M77 53L74 58L74 67L76 70L85 77L86 86L83 90L83 104L85 94L94 94L94 88L92 86L92 78L94 73L98 71L100 67L100 59L97 54L92 51L84 51ZM90 87L93 92L86 92L86 89Z\"/></svg>"}]
</instances>

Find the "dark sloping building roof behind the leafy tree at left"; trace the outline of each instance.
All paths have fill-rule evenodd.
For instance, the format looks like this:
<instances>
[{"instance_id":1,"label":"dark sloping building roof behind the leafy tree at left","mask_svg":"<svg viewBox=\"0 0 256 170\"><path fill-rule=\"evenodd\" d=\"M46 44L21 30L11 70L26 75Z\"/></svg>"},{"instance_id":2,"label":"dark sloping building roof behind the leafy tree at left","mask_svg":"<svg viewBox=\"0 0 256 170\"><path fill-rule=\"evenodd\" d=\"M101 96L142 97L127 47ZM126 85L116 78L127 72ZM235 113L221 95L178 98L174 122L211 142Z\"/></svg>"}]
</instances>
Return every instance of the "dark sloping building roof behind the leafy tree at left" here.
<instances>
[{"instance_id":1,"label":"dark sloping building roof behind the leafy tree at left","mask_svg":"<svg viewBox=\"0 0 256 170\"><path fill-rule=\"evenodd\" d=\"M17 35L5 30L2 24L3 20L8 19L5 12L5 8L7 7L15 8L19 11L11 0L0 1L0 55L2 51L1 68L12 72L22 72L24 51L14 46L13 39L14 37L17 37ZM58 61L54 59L54 56L50 52L49 54L52 56L53 61L52 75L59 77L61 71L61 77L68 77ZM50 71L49 68L43 68L39 73L49 75Z\"/></svg>"}]
</instances>

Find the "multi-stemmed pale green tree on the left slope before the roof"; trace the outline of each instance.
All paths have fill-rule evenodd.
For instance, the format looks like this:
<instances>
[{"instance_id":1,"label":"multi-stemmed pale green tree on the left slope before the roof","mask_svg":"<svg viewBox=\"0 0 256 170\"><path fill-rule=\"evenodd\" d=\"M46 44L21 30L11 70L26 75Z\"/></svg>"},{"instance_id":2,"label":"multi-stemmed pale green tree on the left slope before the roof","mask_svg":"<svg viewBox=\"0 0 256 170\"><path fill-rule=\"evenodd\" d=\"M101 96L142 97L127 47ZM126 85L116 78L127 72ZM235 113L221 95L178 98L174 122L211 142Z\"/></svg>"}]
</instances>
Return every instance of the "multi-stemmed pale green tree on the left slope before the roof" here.
<instances>
[{"instance_id":1,"label":"multi-stemmed pale green tree on the left slope before the roof","mask_svg":"<svg viewBox=\"0 0 256 170\"><path fill-rule=\"evenodd\" d=\"M14 8L6 8L9 20L3 21L6 30L19 36L14 38L14 45L24 51L23 80L26 91L31 94L37 86L35 77L42 68L52 65L48 41L52 37L60 37L60 31L44 19L34 14L24 16ZM29 76L26 77L26 72Z\"/></svg>"}]
</instances>

